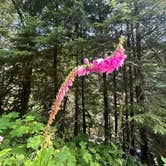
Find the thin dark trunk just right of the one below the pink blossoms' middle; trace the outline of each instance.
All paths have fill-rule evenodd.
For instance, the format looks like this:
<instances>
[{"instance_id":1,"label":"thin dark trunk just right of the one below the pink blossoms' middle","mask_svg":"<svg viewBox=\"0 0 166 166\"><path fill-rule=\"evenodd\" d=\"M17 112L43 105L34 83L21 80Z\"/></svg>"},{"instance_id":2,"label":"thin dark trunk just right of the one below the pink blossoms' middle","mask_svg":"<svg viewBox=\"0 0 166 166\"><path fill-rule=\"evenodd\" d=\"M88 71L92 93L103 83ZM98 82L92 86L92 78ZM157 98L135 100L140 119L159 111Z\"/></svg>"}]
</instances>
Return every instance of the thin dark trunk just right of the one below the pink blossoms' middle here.
<instances>
[{"instance_id":1,"label":"thin dark trunk just right of the one below the pink blossoms' middle","mask_svg":"<svg viewBox=\"0 0 166 166\"><path fill-rule=\"evenodd\" d=\"M118 110L117 110L117 94L116 94L116 71L113 72L113 87L114 87L114 118L115 118L115 141L118 133Z\"/></svg>"}]
</instances>

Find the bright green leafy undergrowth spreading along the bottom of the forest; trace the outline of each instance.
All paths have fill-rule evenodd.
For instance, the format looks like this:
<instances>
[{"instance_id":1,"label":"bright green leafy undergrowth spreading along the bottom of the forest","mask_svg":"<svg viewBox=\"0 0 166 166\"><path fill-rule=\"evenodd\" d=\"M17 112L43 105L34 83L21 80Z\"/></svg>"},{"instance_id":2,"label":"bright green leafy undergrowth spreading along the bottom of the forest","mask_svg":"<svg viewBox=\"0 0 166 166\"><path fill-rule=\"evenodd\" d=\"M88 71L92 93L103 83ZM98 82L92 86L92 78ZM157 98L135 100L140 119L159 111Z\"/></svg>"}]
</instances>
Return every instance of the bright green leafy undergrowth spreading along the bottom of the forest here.
<instances>
[{"instance_id":1,"label":"bright green leafy undergrowth spreading along the bottom of the forest","mask_svg":"<svg viewBox=\"0 0 166 166\"><path fill-rule=\"evenodd\" d=\"M59 140L49 148L42 148L43 124L32 115L19 118L12 112L0 118L0 165L3 166L136 166L137 161L129 157L126 163L124 152L114 144L93 144L85 137L65 142Z\"/></svg>"}]
</instances>

